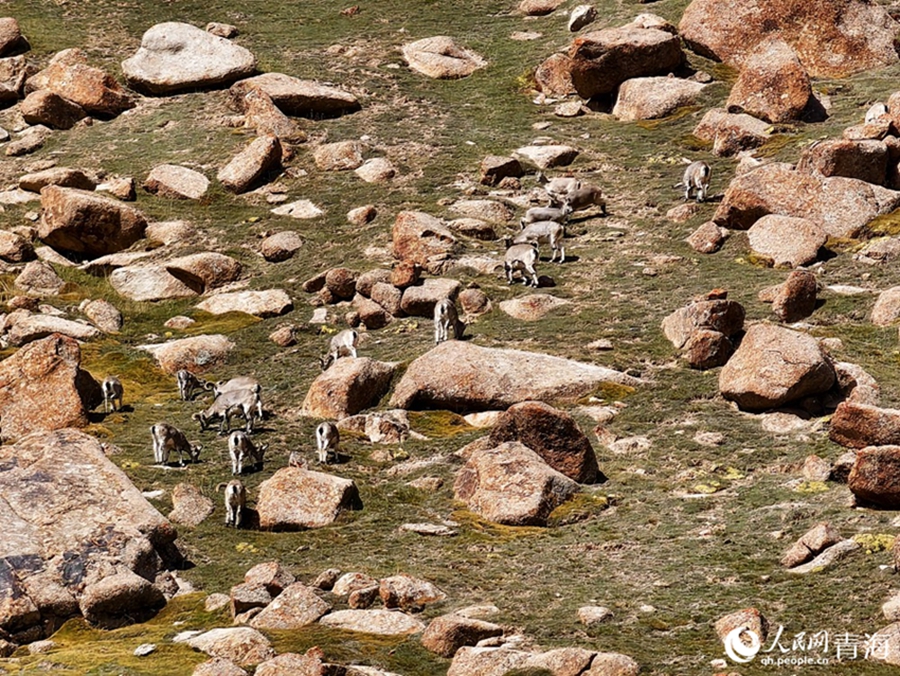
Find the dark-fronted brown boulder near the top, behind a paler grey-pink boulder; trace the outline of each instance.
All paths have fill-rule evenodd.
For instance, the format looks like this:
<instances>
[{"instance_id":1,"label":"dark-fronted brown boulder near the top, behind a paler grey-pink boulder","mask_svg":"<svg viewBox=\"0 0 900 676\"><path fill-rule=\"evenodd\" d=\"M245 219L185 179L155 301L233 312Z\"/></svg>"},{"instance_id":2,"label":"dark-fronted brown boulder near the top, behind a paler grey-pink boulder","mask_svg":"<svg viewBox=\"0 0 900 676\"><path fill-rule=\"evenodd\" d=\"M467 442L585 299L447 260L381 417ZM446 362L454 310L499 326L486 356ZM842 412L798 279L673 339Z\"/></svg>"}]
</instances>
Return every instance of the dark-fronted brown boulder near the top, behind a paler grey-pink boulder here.
<instances>
[{"instance_id":1,"label":"dark-fronted brown boulder near the top, behind a paler grey-pink boulder","mask_svg":"<svg viewBox=\"0 0 900 676\"><path fill-rule=\"evenodd\" d=\"M633 25L585 33L568 55L572 84L585 99L610 94L632 78L666 75L684 61L677 35Z\"/></svg>"}]
</instances>

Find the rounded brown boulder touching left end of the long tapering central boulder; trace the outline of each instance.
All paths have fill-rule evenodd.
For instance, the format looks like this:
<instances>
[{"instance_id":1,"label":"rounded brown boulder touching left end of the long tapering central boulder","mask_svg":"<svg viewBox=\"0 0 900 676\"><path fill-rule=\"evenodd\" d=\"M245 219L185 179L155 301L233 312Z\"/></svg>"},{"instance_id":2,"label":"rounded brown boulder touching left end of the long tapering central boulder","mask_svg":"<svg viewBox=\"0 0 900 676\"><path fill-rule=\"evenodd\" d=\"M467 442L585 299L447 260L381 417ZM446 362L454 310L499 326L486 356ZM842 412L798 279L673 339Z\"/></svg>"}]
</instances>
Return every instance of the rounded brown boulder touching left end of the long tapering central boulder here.
<instances>
[{"instance_id":1,"label":"rounded brown boulder touching left end of the long tapering central boulder","mask_svg":"<svg viewBox=\"0 0 900 676\"><path fill-rule=\"evenodd\" d=\"M397 365L367 357L338 359L310 385L303 415L338 419L374 406L387 392Z\"/></svg>"}]
</instances>

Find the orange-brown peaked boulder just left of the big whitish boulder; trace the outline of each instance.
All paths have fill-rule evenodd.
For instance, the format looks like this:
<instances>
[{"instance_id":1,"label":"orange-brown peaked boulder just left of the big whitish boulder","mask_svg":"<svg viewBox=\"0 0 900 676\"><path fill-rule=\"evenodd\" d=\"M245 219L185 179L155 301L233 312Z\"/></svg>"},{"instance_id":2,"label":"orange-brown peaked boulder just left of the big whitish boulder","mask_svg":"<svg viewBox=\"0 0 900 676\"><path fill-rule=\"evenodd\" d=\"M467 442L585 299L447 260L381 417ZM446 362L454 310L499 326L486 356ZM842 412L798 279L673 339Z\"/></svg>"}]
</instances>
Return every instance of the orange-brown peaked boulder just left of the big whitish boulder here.
<instances>
[{"instance_id":1,"label":"orange-brown peaked boulder just left of the big whitish boulder","mask_svg":"<svg viewBox=\"0 0 900 676\"><path fill-rule=\"evenodd\" d=\"M88 65L80 49L65 49L56 54L48 66L28 78L26 91L46 89L81 106L94 115L118 115L134 108L134 100L99 68Z\"/></svg>"}]
</instances>

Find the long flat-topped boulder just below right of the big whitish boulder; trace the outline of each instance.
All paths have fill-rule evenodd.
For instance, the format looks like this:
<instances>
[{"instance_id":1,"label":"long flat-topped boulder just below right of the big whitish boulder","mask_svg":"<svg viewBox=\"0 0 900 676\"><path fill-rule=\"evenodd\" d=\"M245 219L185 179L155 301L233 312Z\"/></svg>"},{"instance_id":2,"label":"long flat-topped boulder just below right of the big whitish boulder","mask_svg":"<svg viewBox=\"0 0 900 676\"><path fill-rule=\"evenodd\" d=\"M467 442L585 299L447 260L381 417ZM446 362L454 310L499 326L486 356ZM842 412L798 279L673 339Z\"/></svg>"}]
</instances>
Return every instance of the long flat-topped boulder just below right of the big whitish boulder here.
<instances>
[{"instance_id":1,"label":"long flat-topped boulder just below right of the big whitish boulder","mask_svg":"<svg viewBox=\"0 0 900 676\"><path fill-rule=\"evenodd\" d=\"M244 112L244 97L254 89L268 94L272 102L287 115L334 116L360 109L359 101L349 92L310 80L298 80L283 73L263 73L235 82L228 90L234 106L241 112Z\"/></svg>"}]
</instances>

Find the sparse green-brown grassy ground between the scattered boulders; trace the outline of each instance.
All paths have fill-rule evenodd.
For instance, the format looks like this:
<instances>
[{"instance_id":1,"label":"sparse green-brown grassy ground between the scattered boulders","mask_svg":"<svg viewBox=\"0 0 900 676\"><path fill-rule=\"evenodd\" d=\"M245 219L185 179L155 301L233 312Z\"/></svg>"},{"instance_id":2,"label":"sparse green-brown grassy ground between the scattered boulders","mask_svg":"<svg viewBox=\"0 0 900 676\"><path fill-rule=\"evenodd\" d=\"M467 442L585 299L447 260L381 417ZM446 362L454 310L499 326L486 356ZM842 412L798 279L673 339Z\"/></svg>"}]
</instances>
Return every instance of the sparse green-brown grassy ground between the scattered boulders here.
<instances>
[{"instance_id":1,"label":"sparse green-brown grassy ground between the scattered boulders","mask_svg":"<svg viewBox=\"0 0 900 676\"><path fill-rule=\"evenodd\" d=\"M749 320L769 318L768 306L756 296L760 289L782 281L787 272L748 262L746 237L735 233L712 256L694 253L683 239L708 220L715 203L684 224L665 219L679 203L672 185L679 180L681 158L706 159L713 167L712 190L721 194L733 174L734 162L713 158L691 136L710 106L721 105L728 87L710 87L702 107L686 115L652 124L625 124L602 115L575 119L552 115L552 107L531 103L529 73L543 58L564 47L571 36L561 12L541 19L516 14L513 2L463 0L408 3L373 0L361 3L355 17L339 11L349 2L271 3L227 2L141 3L137 0L36 2L9 0L4 15L15 16L31 40L30 58L39 64L56 51L79 46L90 59L118 74L118 62L139 44L144 30L164 20L205 25L217 20L241 29L238 42L258 57L261 69L337 83L356 93L362 111L333 120L302 120L313 141L370 137L370 155L390 158L400 177L388 186L368 185L352 173L323 174L309 150L299 147L292 161L307 174L281 176L292 199L309 198L327 214L313 222L294 222L272 215L260 196L234 197L213 188L202 203L173 202L142 193L138 206L155 220L185 219L201 235L196 250L213 248L238 258L248 271L251 288L282 287L295 298L295 311L284 319L247 321L241 317L211 318L189 301L159 304L119 299L104 279L61 270L72 291L53 301L73 308L85 297L105 297L127 317L121 335L84 348L85 364L96 376L119 374L128 407L92 429L119 446L113 460L142 490L164 489L155 504L171 508L170 490L190 481L214 495L214 486L228 477L225 444L213 433L200 434L190 415L201 406L178 400L174 379L159 372L135 346L169 334L222 331L237 343L228 363L214 379L252 372L264 384L266 404L275 415L265 423L261 439L272 445L265 469L245 477L251 496L259 483L286 463L291 451L312 457L316 421L297 418L297 409L318 372L315 357L328 337L313 329L300 333L296 348L280 349L267 340L284 321L305 323L312 308L300 288L303 280L342 264L354 269L383 266L386 260L366 259L363 251L389 242L394 215L419 209L447 215L438 202L457 198L459 174L477 176L488 154L509 154L537 136L549 136L580 148L571 169L599 183L609 194L610 216L580 219L577 237L567 251L578 260L563 266L544 264L556 280L552 293L576 304L542 321L523 324L498 310L470 328L481 345L511 346L594 361L648 376L652 386L623 398L626 404L610 429L621 437L643 435L646 450L617 455L595 443L601 468L610 477L574 506L555 515L547 529L500 528L459 511L452 499L458 468L453 452L479 432L448 425L445 416L424 415L416 425L427 441L403 444L413 459L437 456L440 462L409 476L386 473L394 463L375 460L375 449L353 439L345 443L352 460L331 471L356 481L364 510L338 524L314 532L260 533L225 529L217 512L195 529L182 528L180 542L195 564L184 572L208 592L227 592L243 571L277 559L300 579L311 580L325 568L363 570L375 576L406 572L437 583L448 600L429 608L434 615L474 603L492 602L501 609L499 621L510 631L525 633L543 647L578 645L632 655L648 674L712 673L710 660L722 657L712 623L738 608L758 607L785 636L801 631L864 634L882 627L880 605L900 587L896 578L879 571L890 562L886 552L857 553L832 570L810 577L786 574L778 560L790 542L812 525L831 521L844 536L894 533L891 512L847 507L846 488L827 484L798 490L794 480L810 453L834 460L842 450L831 444L822 425L808 431L774 435L754 416L744 415L717 396L716 372L698 373L679 362L659 325L673 309L714 287L729 290L741 301ZM633 2L601 0L601 25L618 25L648 9ZM686 0L661 0L649 7L677 22ZM536 41L509 39L514 31L543 34ZM398 47L435 34L450 34L488 58L490 66L466 80L437 82L400 65ZM344 48L328 50L340 45ZM730 77L725 69L693 58L695 66ZM896 88L900 68L866 74L852 81L817 82L832 101L828 121L798 125L764 154L785 161L799 148L822 137L836 137L862 118L874 100L886 100ZM56 133L44 149L26 158L7 159L0 179L12 183L36 160L54 159L60 166L130 175L138 181L156 164L171 162L195 167L208 176L250 139L221 124L232 114L224 92L189 93L144 99L133 112L90 128ZM0 125L13 126L12 111L0 111ZM532 125L549 122L536 131ZM533 179L525 179L526 186ZM362 204L375 204L378 218L357 228L344 215ZM7 207L0 219L8 225L25 222L35 205ZM295 229L305 246L294 259L266 264L254 253L264 232ZM621 236L611 237L611 233ZM497 246L469 242L472 251ZM660 255L675 255L666 262ZM652 267L655 276L645 274ZM872 267L841 254L820 271L828 284L862 284L875 289L900 283L891 266ZM463 276L477 281L497 303L527 293L500 279ZM885 405L900 404L896 372L896 329L866 322L873 296L845 298L823 294L824 304L810 320L811 332L837 337L843 348L836 357L862 365L882 385ZM198 319L188 332L168 331L162 324L176 314ZM340 317L343 311L338 311ZM155 338L154 338L155 336ZM585 345L608 338L614 349L586 354ZM406 319L366 336L362 354L381 359L411 360L428 349L429 322ZM593 427L576 412L586 432ZM151 467L147 429L166 420L190 430L204 444L203 462L186 470ZM721 432L724 442L710 447L696 441L697 432ZM444 487L434 493L409 488L420 475L440 476ZM698 486L716 489L694 497ZM818 490L823 488L824 490ZM685 497L691 495L691 497ZM601 509L605 498L612 506ZM451 518L459 521L455 538L429 539L402 534L409 521ZM585 604L610 607L614 618L586 629L575 611ZM653 606L654 611L642 610ZM0 660L10 673L188 674L201 656L171 645L176 631L227 623L223 615L202 611L202 599L189 597L170 604L155 620L116 632L99 632L70 622L55 637L60 647L47 655ZM175 625L176 622L181 624ZM323 629L274 635L279 650L304 650L321 645L329 659L384 666L408 676L443 674L448 661L426 653L416 640L376 641ZM158 642L146 658L132 656L140 643ZM741 674L771 673L760 665L742 667ZM847 674L892 673L888 667L863 660L845 661L831 670ZM831 670L829 673L831 673ZM812 670L809 673L813 673Z\"/></svg>"}]
</instances>

